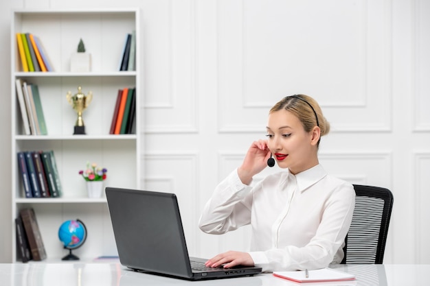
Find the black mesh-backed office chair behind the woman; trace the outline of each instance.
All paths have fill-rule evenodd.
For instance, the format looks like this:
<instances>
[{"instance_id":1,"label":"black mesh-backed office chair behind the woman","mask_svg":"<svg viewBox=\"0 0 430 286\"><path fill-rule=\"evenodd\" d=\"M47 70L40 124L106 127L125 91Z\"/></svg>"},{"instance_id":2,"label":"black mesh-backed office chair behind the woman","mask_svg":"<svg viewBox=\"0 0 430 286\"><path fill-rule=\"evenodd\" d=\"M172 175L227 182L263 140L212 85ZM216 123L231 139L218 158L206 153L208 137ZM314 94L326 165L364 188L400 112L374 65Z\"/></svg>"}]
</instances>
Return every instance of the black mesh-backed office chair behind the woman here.
<instances>
[{"instance_id":1,"label":"black mesh-backed office chair behind the woman","mask_svg":"<svg viewBox=\"0 0 430 286\"><path fill-rule=\"evenodd\" d=\"M389 189L354 184L355 208L341 264L382 264L393 194Z\"/></svg>"}]
</instances>

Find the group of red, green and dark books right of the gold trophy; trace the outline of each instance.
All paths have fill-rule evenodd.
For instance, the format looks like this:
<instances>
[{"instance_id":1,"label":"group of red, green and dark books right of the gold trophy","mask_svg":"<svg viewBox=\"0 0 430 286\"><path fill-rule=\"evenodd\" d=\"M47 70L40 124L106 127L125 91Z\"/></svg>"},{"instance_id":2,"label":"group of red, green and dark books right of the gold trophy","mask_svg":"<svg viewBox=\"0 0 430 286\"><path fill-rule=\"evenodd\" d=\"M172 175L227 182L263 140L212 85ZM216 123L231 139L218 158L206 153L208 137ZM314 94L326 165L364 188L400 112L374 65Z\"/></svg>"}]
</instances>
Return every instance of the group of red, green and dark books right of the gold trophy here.
<instances>
[{"instance_id":1,"label":"group of red, green and dark books right of the gold trophy","mask_svg":"<svg viewBox=\"0 0 430 286\"><path fill-rule=\"evenodd\" d=\"M120 89L109 134L133 134L136 117L136 88Z\"/></svg>"}]
</instances>

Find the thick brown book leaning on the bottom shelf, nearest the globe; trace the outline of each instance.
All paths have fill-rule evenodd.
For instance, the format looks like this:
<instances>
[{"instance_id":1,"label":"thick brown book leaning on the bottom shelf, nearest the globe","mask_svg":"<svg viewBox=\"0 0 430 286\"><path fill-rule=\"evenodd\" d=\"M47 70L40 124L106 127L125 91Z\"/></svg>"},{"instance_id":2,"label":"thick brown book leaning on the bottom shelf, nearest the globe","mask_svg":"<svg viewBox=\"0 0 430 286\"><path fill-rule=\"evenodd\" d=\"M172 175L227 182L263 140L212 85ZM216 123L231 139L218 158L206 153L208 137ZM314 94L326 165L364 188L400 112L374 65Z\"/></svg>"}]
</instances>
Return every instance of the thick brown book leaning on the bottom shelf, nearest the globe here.
<instances>
[{"instance_id":1,"label":"thick brown book leaning on the bottom shelf, nearest the globe","mask_svg":"<svg viewBox=\"0 0 430 286\"><path fill-rule=\"evenodd\" d=\"M28 244L32 252L34 261L42 261L46 259L45 246L43 245L43 239L41 230L38 227L36 213L33 208L23 208L19 211L19 215L23 220L25 234L27 235Z\"/></svg>"}]
</instances>

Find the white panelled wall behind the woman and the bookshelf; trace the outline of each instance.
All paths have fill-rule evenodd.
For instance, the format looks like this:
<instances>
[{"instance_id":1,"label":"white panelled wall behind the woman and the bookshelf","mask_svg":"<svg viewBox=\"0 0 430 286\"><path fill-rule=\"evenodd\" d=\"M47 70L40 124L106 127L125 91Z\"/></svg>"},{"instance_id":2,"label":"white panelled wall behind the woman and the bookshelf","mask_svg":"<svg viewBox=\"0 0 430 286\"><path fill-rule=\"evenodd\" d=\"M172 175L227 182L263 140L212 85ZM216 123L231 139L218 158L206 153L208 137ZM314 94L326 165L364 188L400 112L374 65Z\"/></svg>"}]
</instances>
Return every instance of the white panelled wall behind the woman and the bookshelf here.
<instances>
[{"instance_id":1,"label":"white panelled wall behind the woman and the bookshelf","mask_svg":"<svg viewBox=\"0 0 430 286\"><path fill-rule=\"evenodd\" d=\"M394 193L385 263L430 263L425 0L8 1L0 10L1 230L12 222L10 8L120 5L142 9L142 185L177 193L191 255L245 250L247 229L205 235L199 213L251 141L264 136L269 108L305 93L332 124L321 141L326 169ZM0 241L0 262L10 262L10 236Z\"/></svg>"}]
</instances>

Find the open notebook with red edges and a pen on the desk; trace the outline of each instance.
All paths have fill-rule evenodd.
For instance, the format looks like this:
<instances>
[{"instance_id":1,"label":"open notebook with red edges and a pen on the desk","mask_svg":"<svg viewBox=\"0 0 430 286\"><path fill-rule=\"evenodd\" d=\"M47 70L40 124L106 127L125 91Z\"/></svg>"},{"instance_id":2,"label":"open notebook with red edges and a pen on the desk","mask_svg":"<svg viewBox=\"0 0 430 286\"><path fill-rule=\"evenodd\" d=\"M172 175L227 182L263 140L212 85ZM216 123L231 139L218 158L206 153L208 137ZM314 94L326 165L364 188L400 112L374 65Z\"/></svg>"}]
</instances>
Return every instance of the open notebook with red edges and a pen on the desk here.
<instances>
[{"instance_id":1,"label":"open notebook with red edges and a pen on the desk","mask_svg":"<svg viewBox=\"0 0 430 286\"><path fill-rule=\"evenodd\" d=\"M306 273L308 275L306 275ZM335 270L331 268L322 268L319 270L309 271L275 271L273 272L273 275L299 283L355 280L354 274L341 272L340 270Z\"/></svg>"}]
</instances>

